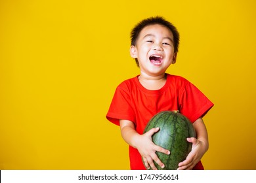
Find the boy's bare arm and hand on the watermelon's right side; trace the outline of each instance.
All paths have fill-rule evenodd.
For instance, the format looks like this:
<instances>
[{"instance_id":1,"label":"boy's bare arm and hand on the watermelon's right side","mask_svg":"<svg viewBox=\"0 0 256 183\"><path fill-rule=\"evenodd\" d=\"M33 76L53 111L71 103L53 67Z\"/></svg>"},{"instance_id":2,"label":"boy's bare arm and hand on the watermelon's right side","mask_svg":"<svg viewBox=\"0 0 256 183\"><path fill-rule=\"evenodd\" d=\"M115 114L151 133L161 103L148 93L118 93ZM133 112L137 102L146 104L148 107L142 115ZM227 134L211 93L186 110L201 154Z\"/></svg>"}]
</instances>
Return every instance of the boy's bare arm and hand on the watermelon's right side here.
<instances>
[{"instance_id":1,"label":"boy's bare arm and hand on the watermelon's right side","mask_svg":"<svg viewBox=\"0 0 256 183\"><path fill-rule=\"evenodd\" d=\"M198 118L193 123L193 126L196 130L197 139L194 137L187 139L188 142L192 142L192 150L187 158L179 163L179 169L192 169L209 148L207 129L203 123L203 119Z\"/></svg>"}]
</instances>

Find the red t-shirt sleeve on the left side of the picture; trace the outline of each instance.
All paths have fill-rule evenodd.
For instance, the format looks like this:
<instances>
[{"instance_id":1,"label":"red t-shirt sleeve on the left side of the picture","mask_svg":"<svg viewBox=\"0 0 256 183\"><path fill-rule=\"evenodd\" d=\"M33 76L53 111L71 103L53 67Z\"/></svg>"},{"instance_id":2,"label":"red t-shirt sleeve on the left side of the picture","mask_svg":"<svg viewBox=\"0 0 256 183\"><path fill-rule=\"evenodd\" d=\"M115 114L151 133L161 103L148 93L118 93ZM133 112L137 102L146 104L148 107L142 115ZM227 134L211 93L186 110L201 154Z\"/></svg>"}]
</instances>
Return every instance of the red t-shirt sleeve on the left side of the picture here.
<instances>
[{"instance_id":1,"label":"red t-shirt sleeve on the left side of the picture","mask_svg":"<svg viewBox=\"0 0 256 183\"><path fill-rule=\"evenodd\" d=\"M130 120L131 122L135 122L135 112L131 95L125 84L117 86L106 118L116 125L119 125L119 120Z\"/></svg>"}]
</instances>

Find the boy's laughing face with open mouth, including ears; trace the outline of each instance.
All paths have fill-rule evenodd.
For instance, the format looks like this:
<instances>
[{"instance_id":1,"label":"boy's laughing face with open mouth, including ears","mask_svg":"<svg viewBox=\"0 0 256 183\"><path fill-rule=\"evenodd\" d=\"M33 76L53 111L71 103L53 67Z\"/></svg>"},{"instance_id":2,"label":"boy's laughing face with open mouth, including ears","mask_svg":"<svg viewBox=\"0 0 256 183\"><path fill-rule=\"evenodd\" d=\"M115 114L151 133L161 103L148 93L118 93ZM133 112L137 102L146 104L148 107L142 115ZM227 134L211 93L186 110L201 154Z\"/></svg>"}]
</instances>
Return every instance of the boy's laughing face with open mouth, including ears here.
<instances>
[{"instance_id":1,"label":"boy's laughing face with open mouth, including ears","mask_svg":"<svg viewBox=\"0 0 256 183\"><path fill-rule=\"evenodd\" d=\"M140 31L137 44L131 46L130 54L138 59L140 73L162 75L176 61L173 33L160 24L148 25Z\"/></svg>"}]
</instances>

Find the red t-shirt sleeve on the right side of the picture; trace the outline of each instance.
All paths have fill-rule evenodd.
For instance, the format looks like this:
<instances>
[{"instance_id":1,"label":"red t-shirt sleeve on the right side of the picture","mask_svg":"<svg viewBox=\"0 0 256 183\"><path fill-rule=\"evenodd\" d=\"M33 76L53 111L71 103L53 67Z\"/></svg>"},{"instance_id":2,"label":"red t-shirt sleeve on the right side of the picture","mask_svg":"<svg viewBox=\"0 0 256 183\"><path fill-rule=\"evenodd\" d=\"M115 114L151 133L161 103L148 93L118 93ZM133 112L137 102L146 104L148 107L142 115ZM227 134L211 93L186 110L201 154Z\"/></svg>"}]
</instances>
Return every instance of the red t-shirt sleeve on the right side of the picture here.
<instances>
[{"instance_id":1,"label":"red t-shirt sleeve on the right side of the picture","mask_svg":"<svg viewBox=\"0 0 256 183\"><path fill-rule=\"evenodd\" d=\"M213 103L190 82L182 91L179 103L181 113L192 123L203 117L213 107Z\"/></svg>"}]
</instances>

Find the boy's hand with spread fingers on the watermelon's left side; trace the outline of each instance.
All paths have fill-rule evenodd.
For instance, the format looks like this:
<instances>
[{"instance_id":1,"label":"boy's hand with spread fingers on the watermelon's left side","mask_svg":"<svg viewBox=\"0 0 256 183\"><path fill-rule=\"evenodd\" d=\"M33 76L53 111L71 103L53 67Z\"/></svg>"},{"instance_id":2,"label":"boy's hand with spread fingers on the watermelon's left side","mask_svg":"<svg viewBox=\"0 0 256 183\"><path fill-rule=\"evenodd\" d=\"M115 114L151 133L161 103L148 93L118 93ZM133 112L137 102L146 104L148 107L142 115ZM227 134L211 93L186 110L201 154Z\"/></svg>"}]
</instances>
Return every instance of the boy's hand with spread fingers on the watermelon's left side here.
<instances>
[{"instance_id":1,"label":"boy's hand with spread fingers on the watermelon's left side","mask_svg":"<svg viewBox=\"0 0 256 183\"><path fill-rule=\"evenodd\" d=\"M150 129L147 133L144 133L143 135L140 135L137 141L137 149L140 152L140 155L142 156L142 159L144 161L144 165L147 169L156 169L156 166L154 165L154 161L160 165L161 168L165 167L165 165L161 162L161 160L156 155L156 152L162 152L164 154L170 154L169 150L165 150L164 148L161 148L160 146L157 146L152 142L152 135L154 133L159 131L159 127Z\"/></svg>"}]
</instances>

